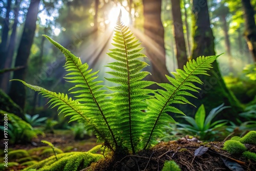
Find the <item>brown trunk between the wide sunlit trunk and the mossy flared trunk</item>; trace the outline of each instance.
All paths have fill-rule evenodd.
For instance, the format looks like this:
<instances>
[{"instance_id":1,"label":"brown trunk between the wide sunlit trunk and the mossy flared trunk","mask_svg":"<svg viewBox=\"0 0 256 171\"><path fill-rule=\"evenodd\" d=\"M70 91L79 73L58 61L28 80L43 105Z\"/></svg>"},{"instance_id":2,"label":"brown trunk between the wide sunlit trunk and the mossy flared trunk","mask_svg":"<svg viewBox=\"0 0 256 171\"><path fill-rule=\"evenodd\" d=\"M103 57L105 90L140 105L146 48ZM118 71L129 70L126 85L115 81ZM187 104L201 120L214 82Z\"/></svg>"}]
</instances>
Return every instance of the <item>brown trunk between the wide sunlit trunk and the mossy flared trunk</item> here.
<instances>
[{"instance_id":1,"label":"brown trunk between the wide sunlit trunk and the mossy flared trunk","mask_svg":"<svg viewBox=\"0 0 256 171\"><path fill-rule=\"evenodd\" d=\"M187 62L186 43L183 33L183 24L180 11L180 0L171 0L174 25L174 38L176 42L176 57L178 68L183 69Z\"/></svg>"}]
</instances>

